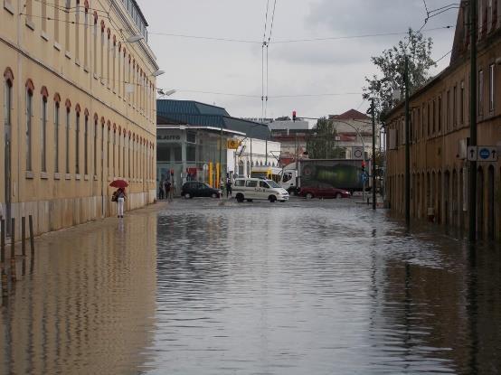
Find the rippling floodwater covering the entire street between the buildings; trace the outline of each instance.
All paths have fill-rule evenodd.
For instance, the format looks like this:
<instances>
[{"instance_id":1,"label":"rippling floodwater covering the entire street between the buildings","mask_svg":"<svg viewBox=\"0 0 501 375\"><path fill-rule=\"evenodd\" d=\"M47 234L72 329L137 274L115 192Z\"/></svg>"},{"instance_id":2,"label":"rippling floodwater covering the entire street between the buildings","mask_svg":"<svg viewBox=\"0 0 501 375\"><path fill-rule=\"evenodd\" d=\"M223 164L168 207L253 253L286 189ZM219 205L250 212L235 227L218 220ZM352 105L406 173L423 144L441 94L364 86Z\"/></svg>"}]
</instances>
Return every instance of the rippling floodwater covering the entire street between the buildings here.
<instances>
[{"instance_id":1,"label":"rippling floodwater covering the entire street between the buildings","mask_svg":"<svg viewBox=\"0 0 501 375\"><path fill-rule=\"evenodd\" d=\"M501 371L500 249L354 202L175 200L15 273L1 374Z\"/></svg>"}]
</instances>

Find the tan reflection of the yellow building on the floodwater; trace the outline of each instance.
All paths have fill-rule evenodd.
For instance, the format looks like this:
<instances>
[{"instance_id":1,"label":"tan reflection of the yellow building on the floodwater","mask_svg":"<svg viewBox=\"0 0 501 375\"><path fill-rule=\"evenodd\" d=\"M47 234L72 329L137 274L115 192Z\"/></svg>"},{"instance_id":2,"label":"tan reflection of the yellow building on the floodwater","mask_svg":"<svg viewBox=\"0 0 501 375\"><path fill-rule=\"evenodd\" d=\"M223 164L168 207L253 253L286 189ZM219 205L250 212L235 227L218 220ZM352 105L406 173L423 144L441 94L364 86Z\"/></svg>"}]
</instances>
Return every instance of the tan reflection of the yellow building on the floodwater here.
<instances>
[{"instance_id":1,"label":"tan reflection of the yellow building on the floodwater","mask_svg":"<svg viewBox=\"0 0 501 375\"><path fill-rule=\"evenodd\" d=\"M156 216L137 214L37 241L33 272L18 261L1 310L0 373L138 373L155 324L155 239Z\"/></svg>"}]
</instances>

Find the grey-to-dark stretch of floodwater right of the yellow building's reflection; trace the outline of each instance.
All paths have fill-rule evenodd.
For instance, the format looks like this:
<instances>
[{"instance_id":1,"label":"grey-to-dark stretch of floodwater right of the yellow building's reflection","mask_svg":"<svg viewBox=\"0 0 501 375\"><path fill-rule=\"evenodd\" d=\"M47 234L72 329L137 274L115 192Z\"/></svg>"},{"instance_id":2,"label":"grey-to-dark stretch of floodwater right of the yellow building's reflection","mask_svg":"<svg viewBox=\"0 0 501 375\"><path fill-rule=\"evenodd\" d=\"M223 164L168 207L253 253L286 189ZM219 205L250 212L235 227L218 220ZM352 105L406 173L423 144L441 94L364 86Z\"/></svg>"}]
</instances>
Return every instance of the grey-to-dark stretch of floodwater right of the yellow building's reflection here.
<instances>
[{"instance_id":1,"label":"grey-to-dark stretch of floodwater right of the yellow building's reflection","mask_svg":"<svg viewBox=\"0 0 501 375\"><path fill-rule=\"evenodd\" d=\"M149 373L501 369L498 248L347 203L197 204L158 221Z\"/></svg>"}]
</instances>

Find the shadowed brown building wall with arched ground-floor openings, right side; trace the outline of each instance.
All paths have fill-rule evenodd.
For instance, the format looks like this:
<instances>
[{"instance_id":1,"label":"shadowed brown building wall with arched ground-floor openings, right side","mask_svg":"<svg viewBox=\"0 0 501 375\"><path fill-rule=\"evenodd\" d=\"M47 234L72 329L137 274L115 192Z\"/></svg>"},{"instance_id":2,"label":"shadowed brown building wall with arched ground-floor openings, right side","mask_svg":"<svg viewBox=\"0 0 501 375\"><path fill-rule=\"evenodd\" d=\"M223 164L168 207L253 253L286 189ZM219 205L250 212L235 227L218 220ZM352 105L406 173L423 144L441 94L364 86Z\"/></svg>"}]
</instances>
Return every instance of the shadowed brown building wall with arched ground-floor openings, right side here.
<instances>
[{"instance_id":1,"label":"shadowed brown building wall with arched ground-floor openings, right side","mask_svg":"<svg viewBox=\"0 0 501 375\"><path fill-rule=\"evenodd\" d=\"M455 50L459 50L457 46ZM499 30L481 33L477 57L477 145L501 145L501 96L498 95L501 67L496 64L500 56ZM467 229L468 217L473 214L481 237L499 238L499 162L477 163L477 212L468 212L469 164L466 153L460 152L460 145L466 145L469 136L469 71L468 54L463 53L439 77L411 97L411 216L424 220L430 211L437 223ZM387 196L392 210L401 213L405 173L403 115L402 105L392 111L386 140Z\"/></svg>"}]
</instances>

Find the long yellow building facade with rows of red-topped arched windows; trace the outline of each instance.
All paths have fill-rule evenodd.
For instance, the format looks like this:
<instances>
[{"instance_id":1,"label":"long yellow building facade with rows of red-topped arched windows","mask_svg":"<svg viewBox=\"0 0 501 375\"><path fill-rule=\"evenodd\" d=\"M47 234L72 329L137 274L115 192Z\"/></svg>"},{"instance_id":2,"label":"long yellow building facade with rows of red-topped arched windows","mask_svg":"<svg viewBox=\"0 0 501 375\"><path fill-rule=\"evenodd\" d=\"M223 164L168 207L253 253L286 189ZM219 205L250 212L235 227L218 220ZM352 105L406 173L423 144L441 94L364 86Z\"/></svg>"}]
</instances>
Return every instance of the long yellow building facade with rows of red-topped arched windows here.
<instances>
[{"instance_id":1,"label":"long yellow building facade with rows of red-topped arched windows","mask_svg":"<svg viewBox=\"0 0 501 375\"><path fill-rule=\"evenodd\" d=\"M28 215L36 234L114 215L118 178L128 210L154 202L158 66L137 3L0 1L7 230Z\"/></svg>"}]
</instances>

